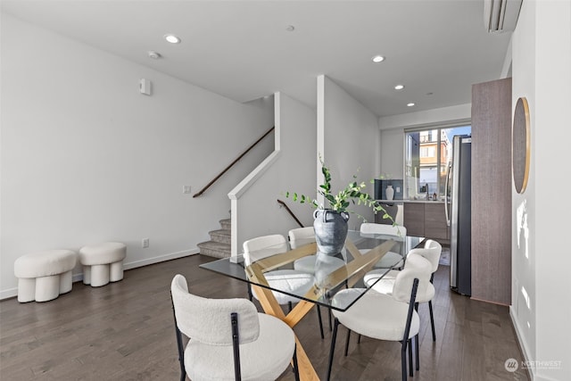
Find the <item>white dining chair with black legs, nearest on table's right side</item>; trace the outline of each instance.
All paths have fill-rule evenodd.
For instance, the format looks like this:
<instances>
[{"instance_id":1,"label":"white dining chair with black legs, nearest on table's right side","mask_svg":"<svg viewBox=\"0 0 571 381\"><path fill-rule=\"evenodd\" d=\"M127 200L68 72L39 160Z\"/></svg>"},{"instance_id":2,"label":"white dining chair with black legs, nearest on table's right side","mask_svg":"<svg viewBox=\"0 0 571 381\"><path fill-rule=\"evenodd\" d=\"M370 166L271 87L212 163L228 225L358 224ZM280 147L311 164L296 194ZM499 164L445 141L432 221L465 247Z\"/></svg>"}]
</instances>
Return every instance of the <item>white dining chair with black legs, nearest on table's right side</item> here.
<instances>
[{"instance_id":1,"label":"white dining chair with black legs, nearest on table's right side","mask_svg":"<svg viewBox=\"0 0 571 381\"><path fill-rule=\"evenodd\" d=\"M409 371L412 376L412 338L416 337L418 346L418 329L420 327L418 312L414 308L418 291L430 283L430 264L424 258L424 268L402 269L395 279L392 294L380 294L369 290L363 294L346 311L333 310L335 316L327 380L331 377L335 356L335 340L339 324L348 329L345 356L348 354L351 331L377 340L398 341L401 343L401 377L407 379L407 349L409 352ZM420 289L420 290L418 290ZM335 294L332 304L346 305L344 299L352 300L362 289L349 288ZM418 362L418 359L417 359Z\"/></svg>"}]
</instances>

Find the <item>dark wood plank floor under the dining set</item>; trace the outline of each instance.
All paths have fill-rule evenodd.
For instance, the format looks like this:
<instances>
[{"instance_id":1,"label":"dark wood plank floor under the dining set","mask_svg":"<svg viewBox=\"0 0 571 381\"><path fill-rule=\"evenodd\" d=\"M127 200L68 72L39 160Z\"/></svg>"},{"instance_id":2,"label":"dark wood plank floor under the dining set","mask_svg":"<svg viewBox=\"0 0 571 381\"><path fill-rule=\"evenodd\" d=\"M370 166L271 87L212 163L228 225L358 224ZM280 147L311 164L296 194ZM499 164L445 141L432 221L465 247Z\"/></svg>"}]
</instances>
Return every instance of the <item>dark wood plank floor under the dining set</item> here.
<instances>
[{"instance_id":1,"label":"dark wood plank floor under the dining set","mask_svg":"<svg viewBox=\"0 0 571 381\"><path fill-rule=\"evenodd\" d=\"M183 274L194 294L245 297L243 282L199 269L211 261L194 255L125 272L117 283L92 288L74 283L51 302L0 302L2 380L178 380L170 306L170 280ZM526 380L509 373L506 360L523 360L507 307L471 301L449 288L449 267L440 266L434 284L436 342L428 306L421 305L420 371L416 380ZM327 327L327 323L326 323ZM295 327L318 374L327 373L331 335L319 337L315 309ZM335 356L335 380L398 380L398 343L363 337L343 356L344 328ZM293 380L291 371L280 380Z\"/></svg>"}]
</instances>

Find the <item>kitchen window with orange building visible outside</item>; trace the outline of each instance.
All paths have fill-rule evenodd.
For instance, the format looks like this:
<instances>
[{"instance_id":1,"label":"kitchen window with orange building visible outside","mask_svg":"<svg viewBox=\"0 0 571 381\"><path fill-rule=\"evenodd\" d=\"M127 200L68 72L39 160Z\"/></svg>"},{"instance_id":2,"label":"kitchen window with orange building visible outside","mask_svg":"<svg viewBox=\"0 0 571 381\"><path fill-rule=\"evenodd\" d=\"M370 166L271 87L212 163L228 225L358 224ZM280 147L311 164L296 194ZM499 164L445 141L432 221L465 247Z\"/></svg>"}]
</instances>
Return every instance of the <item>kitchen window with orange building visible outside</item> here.
<instances>
[{"instance_id":1,"label":"kitchen window with orange building visible outside","mask_svg":"<svg viewBox=\"0 0 571 381\"><path fill-rule=\"evenodd\" d=\"M467 124L405 129L404 190L410 199L444 198L455 135L471 135Z\"/></svg>"}]
</instances>

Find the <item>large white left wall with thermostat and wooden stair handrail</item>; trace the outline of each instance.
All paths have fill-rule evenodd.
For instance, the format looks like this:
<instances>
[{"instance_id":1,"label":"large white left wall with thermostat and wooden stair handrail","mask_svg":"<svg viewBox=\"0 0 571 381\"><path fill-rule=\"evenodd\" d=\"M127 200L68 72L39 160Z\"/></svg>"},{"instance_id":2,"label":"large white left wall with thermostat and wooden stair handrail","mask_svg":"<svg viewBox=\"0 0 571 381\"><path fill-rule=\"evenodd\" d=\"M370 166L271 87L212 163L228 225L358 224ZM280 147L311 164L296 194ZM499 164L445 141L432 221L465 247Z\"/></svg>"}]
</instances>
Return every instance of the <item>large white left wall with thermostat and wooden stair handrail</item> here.
<instances>
[{"instance_id":1,"label":"large white left wall with thermostat and wooden stair handrail","mask_svg":"<svg viewBox=\"0 0 571 381\"><path fill-rule=\"evenodd\" d=\"M4 13L1 31L2 298L25 253L118 240L126 268L197 253L228 218L228 191L273 149L268 137L202 197L183 195L273 125L272 99L237 104Z\"/></svg>"}]
</instances>

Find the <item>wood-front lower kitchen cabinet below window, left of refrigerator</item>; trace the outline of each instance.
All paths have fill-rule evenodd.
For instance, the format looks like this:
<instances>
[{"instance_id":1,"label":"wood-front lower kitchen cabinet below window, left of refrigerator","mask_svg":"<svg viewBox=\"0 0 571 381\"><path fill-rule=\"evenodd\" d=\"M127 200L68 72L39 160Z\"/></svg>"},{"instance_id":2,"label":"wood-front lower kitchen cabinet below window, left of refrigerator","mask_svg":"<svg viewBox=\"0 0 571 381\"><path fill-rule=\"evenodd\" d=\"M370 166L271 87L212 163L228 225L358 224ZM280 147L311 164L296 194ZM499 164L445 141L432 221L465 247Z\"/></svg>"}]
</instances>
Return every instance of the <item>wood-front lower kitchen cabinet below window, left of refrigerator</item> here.
<instances>
[{"instance_id":1,"label":"wood-front lower kitchen cabinet below window, left of refrigerator","mask_svg":"<svg viewBox=\"0 0 571 381\"><path fill-rule=\"evenodd\" d=\"M440 244L450 244L450 233L444 214L444 203L404 203L404 226L410 236L426 236Z\"/></svg>"}]
</instances>

